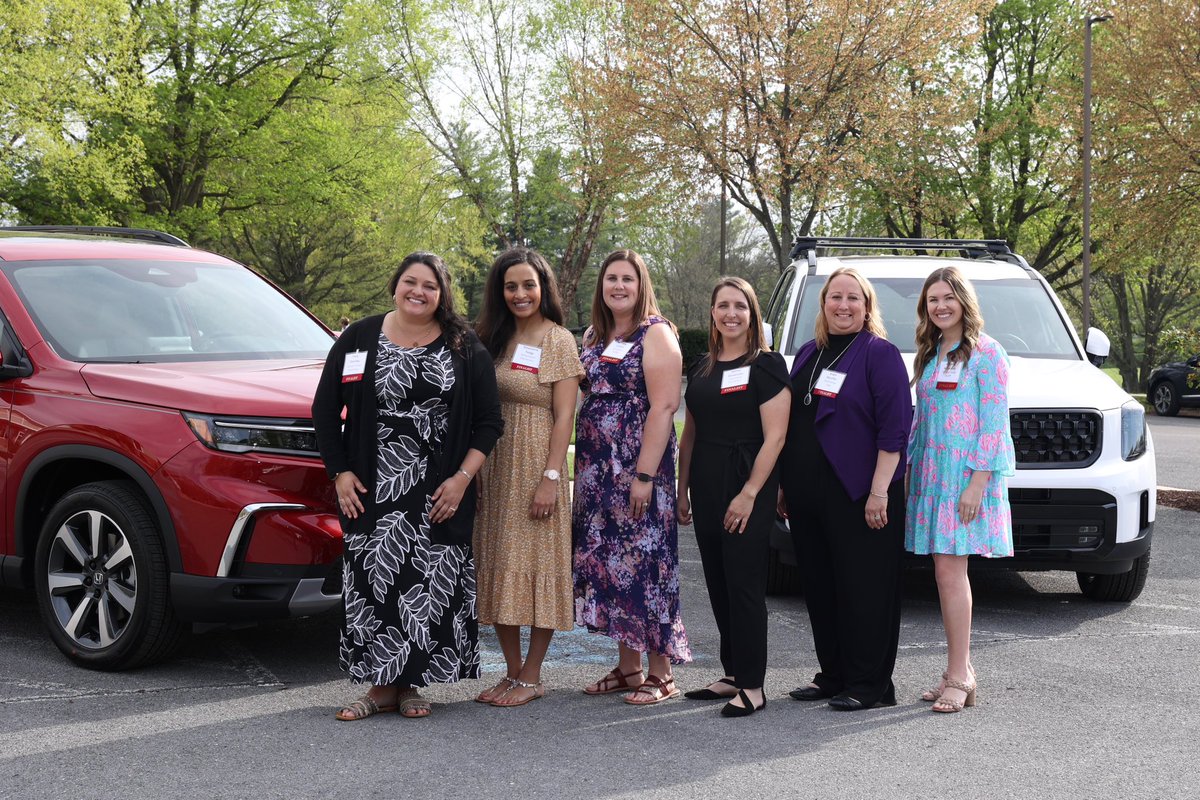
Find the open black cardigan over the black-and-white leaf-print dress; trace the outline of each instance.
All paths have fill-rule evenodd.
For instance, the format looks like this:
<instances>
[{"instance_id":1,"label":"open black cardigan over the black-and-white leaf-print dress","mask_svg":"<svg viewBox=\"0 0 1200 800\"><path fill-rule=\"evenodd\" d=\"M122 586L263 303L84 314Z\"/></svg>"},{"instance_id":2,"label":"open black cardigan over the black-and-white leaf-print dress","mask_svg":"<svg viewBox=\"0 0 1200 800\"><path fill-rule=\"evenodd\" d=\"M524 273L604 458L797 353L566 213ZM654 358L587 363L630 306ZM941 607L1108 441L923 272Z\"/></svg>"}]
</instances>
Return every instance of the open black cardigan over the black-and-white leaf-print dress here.
<instances>
[{"instance_id":1,"label":"open black cardigan over the black-and-white leaf-print dress","mask_svg":"<svg viewBox=\"0 0 1200 800\"><path fill-rule=\"evenodd\" d=\"M334 342L320 373L317 395L312 401L312 422L317 429L317 446L325 462L329 477L352 470L358 475L367 493L360 495L365 513L358 519L342 515L346 533L370 533L367 525L376 522L374 482L376 457L376 357L379 349L379 331L384 314L361 319ZM342 365L346 354L365 350L366 366L362 380L342 383ZM462 465L467 451L479 450L485 456L492 452L496 441L504 433L500 416L500 397L496 389L496 367L479 337L468 331L463 338L462 353L450 349L454 363L454 390L450 398L450 417L446 440L437 462L439 482L446 480ZM342 423L342 409L346 423ZM440 545L470 545L475 524L475 480L462 495L458 510L448 521L430 527L430 539Z\"/></svg>"}]
</instances>

